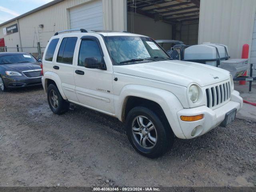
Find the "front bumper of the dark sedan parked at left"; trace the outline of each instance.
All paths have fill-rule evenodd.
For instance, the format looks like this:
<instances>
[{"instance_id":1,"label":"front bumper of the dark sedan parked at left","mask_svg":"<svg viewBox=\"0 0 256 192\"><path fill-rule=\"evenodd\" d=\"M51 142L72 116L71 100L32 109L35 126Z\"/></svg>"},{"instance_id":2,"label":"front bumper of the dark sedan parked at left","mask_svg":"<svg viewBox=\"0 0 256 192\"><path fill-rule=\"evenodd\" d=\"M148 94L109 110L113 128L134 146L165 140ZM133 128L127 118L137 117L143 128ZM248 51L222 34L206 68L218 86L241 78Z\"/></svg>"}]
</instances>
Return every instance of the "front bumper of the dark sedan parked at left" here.
<instances>
[{"instance_id":1,"label":"front bumper of the dark sedan parked at left","mask_svg":"<svg viewBox=\"0 0 256 192\"><path fill-rule=\"evenodd\" d=\"M19 88L26 86L36 86L42 84L41 77L27 78L26 76L3 76L6 88Z\"/></svg>"}]
</instances>

